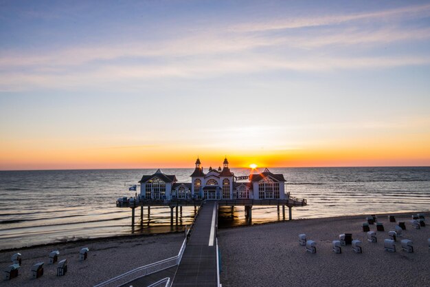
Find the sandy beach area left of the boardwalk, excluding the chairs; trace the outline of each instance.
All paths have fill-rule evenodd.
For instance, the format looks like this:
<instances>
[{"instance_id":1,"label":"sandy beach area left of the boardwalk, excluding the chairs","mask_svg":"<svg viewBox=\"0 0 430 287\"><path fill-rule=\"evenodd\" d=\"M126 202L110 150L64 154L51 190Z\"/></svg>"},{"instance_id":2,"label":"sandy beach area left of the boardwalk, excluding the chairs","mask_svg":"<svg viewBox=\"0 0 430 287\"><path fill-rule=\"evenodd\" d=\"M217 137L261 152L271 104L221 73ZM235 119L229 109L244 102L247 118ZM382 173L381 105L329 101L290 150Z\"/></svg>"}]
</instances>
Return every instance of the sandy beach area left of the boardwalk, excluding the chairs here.
<instances>
[{"instance_id":1,"label":"sandy beach area left of the boardwalk, excluding the chairs","mask_svg":"<svg viewBox=\"0 0 430 287\"><path fill-rule=\"evenodd\" d=\"M131 236L118 239L91 240L38 246L0 253L1 286L94 286L152 262L157 262L178 254L183 242L183 233L152 236ZM88 259L79 261L82 247L89 248ZM65 276L56 276L56 265L48 264L51 251L60 251L59 260L67 258L69 264ZM3 270L10 265L10 256L22 254L19 276L4 280ZM32 264L45 262L44 274L32 279Z\"/></svg>"}]
</instances>

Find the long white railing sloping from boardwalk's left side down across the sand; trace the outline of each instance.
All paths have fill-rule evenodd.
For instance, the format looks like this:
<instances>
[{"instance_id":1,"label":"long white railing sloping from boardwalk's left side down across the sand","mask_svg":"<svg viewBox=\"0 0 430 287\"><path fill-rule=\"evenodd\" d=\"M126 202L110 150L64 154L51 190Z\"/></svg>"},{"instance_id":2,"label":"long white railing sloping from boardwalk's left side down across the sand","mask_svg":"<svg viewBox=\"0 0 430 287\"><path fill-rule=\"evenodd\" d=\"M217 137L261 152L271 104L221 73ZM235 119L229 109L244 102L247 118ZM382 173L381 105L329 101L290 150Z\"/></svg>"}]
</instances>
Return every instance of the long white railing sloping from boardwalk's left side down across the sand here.
<instances>
[{"instance_id":1,"label":"long white railing sloping from boardwalk's left side down across the sand","mask_svg":"<svg viewBox=\"0 0 430 287\"><path fill-rule=\"evenodd\" d=\"M129 283L129 282L131 282L137 278L144 277L146 275L150 275L152 273L156 273L156 272L159 272L161 270L166 270L166 269L173 267L173 266L177 266L181 262L183 251L185 251L186 244L187 244L187 238L185 237L185 240L183 240L181 249L179 250L179 253L177 256L170 257L168 259L164 259L164 260L161 260L159 262L155 262L152 264L148 264L148 265L133 269L131 271L128 271L127 273L124 273L122 275L119 275L117 277L109 279L108 281L104 281L103 283L95 285L94 287L118 287L118 286L122 286L122 285Z\"/></svg>"}]
</instances>

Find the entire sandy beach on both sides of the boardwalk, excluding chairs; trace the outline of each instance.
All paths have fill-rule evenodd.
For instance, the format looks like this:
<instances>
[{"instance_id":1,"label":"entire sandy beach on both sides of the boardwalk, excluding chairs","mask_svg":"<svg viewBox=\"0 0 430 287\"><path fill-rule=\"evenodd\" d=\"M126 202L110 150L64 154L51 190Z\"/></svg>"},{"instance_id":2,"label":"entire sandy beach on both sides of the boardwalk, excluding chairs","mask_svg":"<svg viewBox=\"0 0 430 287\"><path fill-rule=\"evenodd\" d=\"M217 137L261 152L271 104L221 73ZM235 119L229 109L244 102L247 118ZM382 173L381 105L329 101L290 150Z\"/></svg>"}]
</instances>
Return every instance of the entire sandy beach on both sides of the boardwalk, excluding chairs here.
<instances>
[{"instance_id":1,"label":"entire sandy beach on both sides of the boardwalk, excluding chairs","mask_svg":"<svg viewBox=\"0 0 430 287\"><path fill-rule=\"evenodd\" d=\"M401 250L396 242L396 253L384 251L383 239L396 223L388 222L387 215L378 215L384 232L377 232L378 243L366 241L361 224L365 215L330 217L312 220L293 220L273 224L220 229L222 273L221 284L226 286L429 286L430 252L427 238L430 226L411 228L411 213L396 214L405 221L407 229L401 239L414 242L414 253ZM376 225L370 225L376 231ZM299 246L297 235L306 233L317 242L317 253L306 253ZM363 242L363 254L343 246L341 254L332 252L332 240L341 233L352 233L353 239ZM93 286L133 268L177 255L183 240L182 233L152 236L120 237L117 239L70 242L36 246L0 253L2 270L10 264L10 256L20 252L23 265L19 277L4 281L2 286ZM78 251L89 247L89 259L78 260ZM56 277L56 264L50 265L50 251L60 251L60 259L69 260L65 276ZM45 262L45 274L32 279L30 266ZM2 273L2 276L4 273Z\"/></svg>"}]
</instances>

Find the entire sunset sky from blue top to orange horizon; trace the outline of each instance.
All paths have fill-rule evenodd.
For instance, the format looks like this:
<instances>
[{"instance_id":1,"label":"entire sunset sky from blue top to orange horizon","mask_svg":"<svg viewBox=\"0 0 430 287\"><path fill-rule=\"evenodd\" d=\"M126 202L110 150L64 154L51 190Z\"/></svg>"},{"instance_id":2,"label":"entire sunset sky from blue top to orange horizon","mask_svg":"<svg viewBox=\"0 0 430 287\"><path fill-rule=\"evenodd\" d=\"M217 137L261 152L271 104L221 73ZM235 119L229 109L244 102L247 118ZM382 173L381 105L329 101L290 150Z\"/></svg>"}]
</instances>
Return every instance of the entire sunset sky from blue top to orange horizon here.
<instances>
[{"instance_id":1,"label":"entire sunset sky from blue top to orange horizon","mask_svg":"<svg viewBox=\"0 0 430 287\"><path fill-rule=\"evenodd\" d=\"M429 147L429 1L0 0L0 170L429 166Z\"/></svg>"}]
</instances>

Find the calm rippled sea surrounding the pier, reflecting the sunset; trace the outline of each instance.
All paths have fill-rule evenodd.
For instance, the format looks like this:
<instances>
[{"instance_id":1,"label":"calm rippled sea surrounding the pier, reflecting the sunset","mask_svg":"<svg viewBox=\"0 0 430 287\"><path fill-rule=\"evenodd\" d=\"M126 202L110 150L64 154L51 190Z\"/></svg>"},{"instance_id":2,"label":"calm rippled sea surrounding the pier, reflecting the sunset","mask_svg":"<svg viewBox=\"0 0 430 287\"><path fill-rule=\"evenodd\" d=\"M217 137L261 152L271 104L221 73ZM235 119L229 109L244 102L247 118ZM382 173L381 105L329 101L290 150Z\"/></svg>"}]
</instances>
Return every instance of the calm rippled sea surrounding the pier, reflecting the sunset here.
<instances>
[{"instance_id":1,"label":"calm rippled sea surrounding the pier, reflecting the sunset","mask_svg":"<svg viewBox=\"0 0 430 287\"><path fill-rule=\"evenodd\" d=\"M187 182L193 169L164 169ZM236 176L247 169L232 169ZM306 198L294 218L332 217L401 211L430 211L430 167L273 168L283 173L287 191ZM155 169L0 171L0 250L49 242L134 233L181 230L194 208L183 208L170 227L170 209L152 208L150 220L131 228L131 210L115 200L134 196L135 184ZM220 227L245 224L243 206L220 211ZM138 210L138 209L137 209ZM288 210L288 209L287 209ZM137 213L138 214L138 213ZM253 223L280 220L276 208L255 206Z\"/></svg>"}]
</instances>

